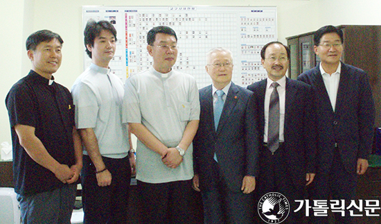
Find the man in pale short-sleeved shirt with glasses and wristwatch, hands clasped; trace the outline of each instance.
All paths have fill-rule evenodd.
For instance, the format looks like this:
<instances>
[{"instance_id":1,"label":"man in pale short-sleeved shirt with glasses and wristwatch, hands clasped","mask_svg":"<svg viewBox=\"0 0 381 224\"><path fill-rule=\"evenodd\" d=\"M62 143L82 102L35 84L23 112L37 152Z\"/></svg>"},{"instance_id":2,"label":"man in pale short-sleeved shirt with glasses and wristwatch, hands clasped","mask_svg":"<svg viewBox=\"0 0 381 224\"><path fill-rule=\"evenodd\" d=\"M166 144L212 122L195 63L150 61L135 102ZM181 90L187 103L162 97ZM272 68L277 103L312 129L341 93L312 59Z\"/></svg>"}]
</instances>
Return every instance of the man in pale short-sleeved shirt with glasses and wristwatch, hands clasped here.
<instances>
[{"instance_id":1,"label":"man in pale short-sleeved shirt with glasses and wristwatch, hands clasped","mask_svg":"<svg viewBox=\"0 0 381 224\"><path fill-rule=\"evenodd\" d=\"M172 28L154 27L147 40L152 67L127 79L123 99L123 119L138 138L140 223L189 223L198 89L193 76L172 69L178 52Z\"/></svg>"}]
</instances>

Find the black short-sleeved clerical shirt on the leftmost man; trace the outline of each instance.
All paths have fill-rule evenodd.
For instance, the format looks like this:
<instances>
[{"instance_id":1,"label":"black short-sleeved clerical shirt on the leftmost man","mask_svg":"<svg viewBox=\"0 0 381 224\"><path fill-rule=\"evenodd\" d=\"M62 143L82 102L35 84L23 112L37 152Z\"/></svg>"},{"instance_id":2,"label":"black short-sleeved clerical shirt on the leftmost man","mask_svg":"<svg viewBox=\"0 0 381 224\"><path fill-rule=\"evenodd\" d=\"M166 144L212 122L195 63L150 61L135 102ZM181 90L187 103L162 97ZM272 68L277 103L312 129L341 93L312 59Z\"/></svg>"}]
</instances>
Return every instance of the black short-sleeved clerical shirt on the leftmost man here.
<instances>
[{"instance_id":1,"label":"black short-sleeved clerical shirt on the leftmost man","mask_svg":"<svg viewBox=\"0 0 381 224\"><path fill-rule=\"evenodd\" d=\"M51 84L51 85L49 85ZM6 97L13 147L15 191L31 195L63 186L54 173L37 164L20 145L17 124L35 128L35 136L60 164L75 164L74 106L66 87L30 71L12 86Z\"/></svg>"}]
</instances>

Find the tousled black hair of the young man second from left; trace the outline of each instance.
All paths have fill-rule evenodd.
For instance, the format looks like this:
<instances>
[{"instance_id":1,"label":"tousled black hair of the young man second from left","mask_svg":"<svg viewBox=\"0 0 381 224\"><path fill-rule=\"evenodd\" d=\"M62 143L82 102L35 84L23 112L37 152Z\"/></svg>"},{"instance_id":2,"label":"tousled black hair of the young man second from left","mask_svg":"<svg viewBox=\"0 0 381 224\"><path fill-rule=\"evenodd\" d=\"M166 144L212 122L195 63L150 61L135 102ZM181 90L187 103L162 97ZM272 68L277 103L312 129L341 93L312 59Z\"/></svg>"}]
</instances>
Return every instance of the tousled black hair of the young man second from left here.
<instances>
[{"instance_id":1,"label":"tousled black hair of the young man second from left","mask_svg":"<svg viewBox=\"0 0 381 224\"><path fill-rule=\"evenodd\" d=\"M85 31L83 32L83 35L85 36L85 48L86 53L91 58L91 51L87 49L87 45L94 46L94 40L96 37L100 35L100 32L102 31L109 31L114 35L116 40L116 29L115 27L110 24L109 21L106 20L100 20L95 21L94 19L89 19L86 24Z\"/></svg>"}]
</instances>

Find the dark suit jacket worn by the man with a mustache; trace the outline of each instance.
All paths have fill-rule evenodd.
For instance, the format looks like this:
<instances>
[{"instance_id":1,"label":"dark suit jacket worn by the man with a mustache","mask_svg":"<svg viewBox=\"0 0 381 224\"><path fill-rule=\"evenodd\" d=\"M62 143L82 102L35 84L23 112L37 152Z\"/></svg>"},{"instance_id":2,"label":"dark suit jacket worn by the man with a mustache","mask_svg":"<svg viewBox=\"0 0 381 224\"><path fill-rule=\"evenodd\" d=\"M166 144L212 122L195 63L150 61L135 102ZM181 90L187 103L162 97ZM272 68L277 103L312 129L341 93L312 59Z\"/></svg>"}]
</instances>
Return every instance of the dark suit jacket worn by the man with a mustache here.
<instances>
[{"instance_id":1,"label":"dark suit jacket worn by the man with a mustache","mask_svg":"<svg viewBox=\"0 0 381 224\"><path fill-rule=\"evenodd\" d=\"M249 101L250 113L254 114L255 126L258 129L258 148L261 154L268 150L261 146L265 129L265 92L267 79L249 85L253 91ZM286 79L285 89L285 123L283 143L285 164L296 187L305 186L305 173L316 171L316 123L313 110L314 96L311 87L296 80ZM266 167L260 166L260 169Z\"/></svg>"}]
</instances>

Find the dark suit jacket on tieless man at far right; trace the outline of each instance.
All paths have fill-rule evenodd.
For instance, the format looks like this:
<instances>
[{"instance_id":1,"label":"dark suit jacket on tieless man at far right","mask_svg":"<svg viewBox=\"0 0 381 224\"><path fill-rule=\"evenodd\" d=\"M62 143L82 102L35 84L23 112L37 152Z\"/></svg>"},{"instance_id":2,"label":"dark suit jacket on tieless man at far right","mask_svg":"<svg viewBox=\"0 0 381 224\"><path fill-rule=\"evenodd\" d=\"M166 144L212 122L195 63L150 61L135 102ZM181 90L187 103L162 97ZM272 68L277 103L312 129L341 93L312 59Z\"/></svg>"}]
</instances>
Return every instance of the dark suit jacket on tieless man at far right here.
<instances>
[{"instance_id":1,"label":"dark suit jacket on tieless man at far right","mask_svg":"<svg viewBox=\"0 0 381 224\"><path fill-rule=\"evenodd\" d=\"M335 143L346 171L355 172L357 158L368 159L374 125L374 102L365 71L342 63L333 111L319 65L298 80L312 85L317 96L319 171L329 172Z\"/></svg>"}]
</instances>

